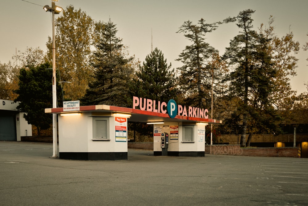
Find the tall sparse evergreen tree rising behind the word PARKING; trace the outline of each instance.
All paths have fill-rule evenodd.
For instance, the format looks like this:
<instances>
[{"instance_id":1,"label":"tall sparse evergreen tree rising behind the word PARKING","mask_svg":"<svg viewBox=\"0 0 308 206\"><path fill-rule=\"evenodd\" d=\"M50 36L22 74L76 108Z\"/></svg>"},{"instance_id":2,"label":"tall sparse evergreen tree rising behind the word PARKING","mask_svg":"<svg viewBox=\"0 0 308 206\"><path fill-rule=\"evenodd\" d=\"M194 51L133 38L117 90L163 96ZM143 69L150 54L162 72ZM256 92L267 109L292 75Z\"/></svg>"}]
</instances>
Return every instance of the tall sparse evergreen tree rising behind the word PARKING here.
<instances>
[{"instance_id":1,"label":"tall sparse evergreen tree rising behind the word PARKING","mask_svg":"<svg viewBox=\"0 0 308 206\"><path fill-rule=\"evenodd\" d=\"M209 62L216 50L205 42L207 32L216 30L218 23L208 24L204 19L198 25L186 21L177 33L192 42L186 46L177 61L183 62L180 67L179 85L184 97L184 104L194 107L209 107L211 102L212 69Z\"/></svg>"}]
</instances>

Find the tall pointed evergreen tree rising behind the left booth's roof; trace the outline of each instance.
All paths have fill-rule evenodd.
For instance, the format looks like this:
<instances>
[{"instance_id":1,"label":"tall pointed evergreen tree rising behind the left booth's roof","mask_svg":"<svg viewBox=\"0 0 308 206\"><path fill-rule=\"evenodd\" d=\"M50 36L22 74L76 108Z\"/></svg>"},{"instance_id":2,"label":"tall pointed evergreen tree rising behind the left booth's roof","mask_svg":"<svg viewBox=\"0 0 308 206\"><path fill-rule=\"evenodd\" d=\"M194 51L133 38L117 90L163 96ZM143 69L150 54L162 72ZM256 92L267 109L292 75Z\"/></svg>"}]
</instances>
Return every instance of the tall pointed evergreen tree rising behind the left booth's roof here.
<instances>
[{"instance_id":1,"label":"tall pointed evergreen tree rising behind the left booth's roof","mask_svg":"<svg viewBox=\"0 0 308 206\"><path fill-rule=\"evenodd\" d=\"M92 61L95 80L90 82L81 104L128 107L130 98L127 84L132 74L128 63L133 58L125 58L122 39L116 36L118 30L110 19L100 28L102 39L96 45L97 51Z\"/></svg>"}]
</instances>

